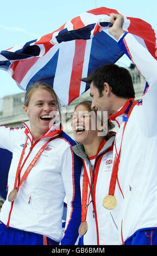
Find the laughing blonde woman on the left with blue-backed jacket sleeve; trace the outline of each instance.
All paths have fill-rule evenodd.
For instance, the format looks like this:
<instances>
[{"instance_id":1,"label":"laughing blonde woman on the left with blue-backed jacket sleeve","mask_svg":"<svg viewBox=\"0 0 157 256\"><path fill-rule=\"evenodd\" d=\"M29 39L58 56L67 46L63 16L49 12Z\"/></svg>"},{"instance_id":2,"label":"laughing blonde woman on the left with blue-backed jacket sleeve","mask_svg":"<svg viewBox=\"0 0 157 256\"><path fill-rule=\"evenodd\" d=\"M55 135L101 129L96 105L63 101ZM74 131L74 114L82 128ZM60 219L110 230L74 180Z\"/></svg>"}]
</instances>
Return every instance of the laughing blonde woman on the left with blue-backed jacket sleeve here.
<instances>
[{"instance_id":1,"label":"laughing blonde woman on the left with blue-backed jacket sleeve","mask_svg":"<svg viewBox=\"0 0 157 256\"><path fill-rule=\"evenodd\" d=\"M12 152L8 195L0 214L1 245L73 245L80 224L81 161L76 144L55 123L59 101L48 84L27 90L23 127L0 127L0 147ZM62 234L62 212L67 220Z\"/></svg>"}]
</instances>

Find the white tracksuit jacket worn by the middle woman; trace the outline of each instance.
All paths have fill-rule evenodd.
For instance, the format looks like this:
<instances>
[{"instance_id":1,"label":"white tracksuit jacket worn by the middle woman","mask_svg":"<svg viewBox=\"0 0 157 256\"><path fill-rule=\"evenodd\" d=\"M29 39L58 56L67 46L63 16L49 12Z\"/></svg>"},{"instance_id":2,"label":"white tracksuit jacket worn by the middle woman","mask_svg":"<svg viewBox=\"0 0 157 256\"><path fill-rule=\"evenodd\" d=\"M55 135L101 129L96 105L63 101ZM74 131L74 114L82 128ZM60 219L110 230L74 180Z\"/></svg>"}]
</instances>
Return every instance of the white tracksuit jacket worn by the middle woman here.
<instances>
[{"instance_id":1,"label":"white tracksuit jacket worn by the middle woman","mask_svg":"<svg viewBox=\"0 0 157 256\"><path fill-rule=\"evenodd\" d=\"M88 224L87 233L83 236L84 245L118 245L117 211L107 210L103 206L103 199L108 194L109 182L112 171L113 145L115 135L113 135L104 145L96 157L95 179L93 182L93 204L90 203L87 209L86 221ZM85 162L87 174L91 181L91 163L84 151L83 145L78 144L72 147L74 153L80 156ZM98 158L103 156L99 165ZM80 177L81 196L83 191L84 167ZM88 195L90 188L88 186ZM88 198L88 197L87 197ZM91 196L90 200L91 201ZM94 208L93 209L93 205ZM93 215L94 211L94 215ZM93 217L94 216L94 217ZM81 237L82 239L82 237Z\"/></svg>"}]
</instances>

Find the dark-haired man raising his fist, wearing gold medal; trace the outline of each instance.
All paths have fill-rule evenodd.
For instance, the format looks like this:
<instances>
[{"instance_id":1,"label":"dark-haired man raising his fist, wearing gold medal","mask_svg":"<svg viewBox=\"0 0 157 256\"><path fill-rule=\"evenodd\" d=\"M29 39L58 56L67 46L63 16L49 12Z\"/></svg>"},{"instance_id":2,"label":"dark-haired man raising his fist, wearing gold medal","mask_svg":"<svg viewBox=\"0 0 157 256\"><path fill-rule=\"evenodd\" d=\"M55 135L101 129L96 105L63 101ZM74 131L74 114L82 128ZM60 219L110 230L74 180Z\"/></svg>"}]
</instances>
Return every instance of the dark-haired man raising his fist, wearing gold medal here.
<instances>
[{"instance_id":1,"label":"dark-haired man raising his fist, wearing gold medal","mask_svg":"<svg viewBox=\"0 0 157 256\"><path fill-rule=\"evenodd\" d=\"M92 108L108 111L118 125L109 193L103 205L118 212L120 244L157 245L157 62L136 38L123 31L122 15L111 14L109 28L146 78L142 102L135 102L128 70L109 64L82 81L90 83Z\"/></svg>"}]
</instances>

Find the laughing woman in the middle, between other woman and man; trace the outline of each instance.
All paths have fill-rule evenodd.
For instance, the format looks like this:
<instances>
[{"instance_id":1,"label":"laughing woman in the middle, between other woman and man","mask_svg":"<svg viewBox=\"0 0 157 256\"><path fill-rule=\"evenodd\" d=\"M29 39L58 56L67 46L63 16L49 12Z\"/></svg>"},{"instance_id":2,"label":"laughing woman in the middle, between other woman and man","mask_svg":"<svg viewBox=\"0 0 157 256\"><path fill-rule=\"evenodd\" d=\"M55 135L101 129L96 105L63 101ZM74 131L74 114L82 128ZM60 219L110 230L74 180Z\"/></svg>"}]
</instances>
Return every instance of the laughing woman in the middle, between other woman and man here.
<instances>
[{"instance_id":1,"label":"laughing woman in the middle, between other woman and man","mask_svg":"<svg viewBox=\"0 0 157 256\"><path fill-rule=\"evenodd\" d=\"M112 172L115 133L100 132L103 126L97 111L92 111L91 103L80 102L75 108L72 121L74 136L78 142L72 149L83 159L80 177L82 205L79 243L117 245L117 209L115 207L111 211L104 207Z\"/></svg>"}]
</instances>

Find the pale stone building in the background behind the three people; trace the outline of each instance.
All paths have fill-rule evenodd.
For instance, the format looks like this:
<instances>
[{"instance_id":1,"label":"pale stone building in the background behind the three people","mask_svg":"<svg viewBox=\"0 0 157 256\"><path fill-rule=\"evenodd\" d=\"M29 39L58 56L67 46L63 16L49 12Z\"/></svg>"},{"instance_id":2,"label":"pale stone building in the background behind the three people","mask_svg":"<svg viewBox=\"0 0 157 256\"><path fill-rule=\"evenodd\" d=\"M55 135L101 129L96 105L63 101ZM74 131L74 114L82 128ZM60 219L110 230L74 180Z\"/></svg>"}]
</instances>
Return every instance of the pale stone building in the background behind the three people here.
<instances>
[{"instance_id":1,"label":"pale stone building in the background behind the three people","mask_svg":"<svg viewBox=\"0 0 157 256\"><path fill-rule=\"evenodd\" d=\"M134 68L134 64L130 65L129 69L133 78L135 89L135 100L139 101L142 98L143 90L145 89L145 78ZM75 99L66 109L66 124L63 124L64 131L73 138L71 127L72 114L74 107L83 100L91 100L90 90ZM28 116L23 111L24 93L8 95L0 99L0 124L10 127L23 126L22 121L27 121Z\"/></svg>"}]
</instances>

